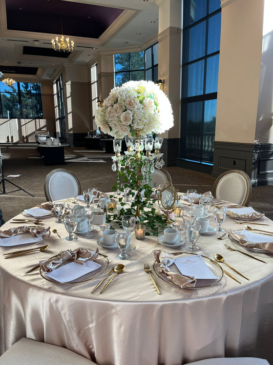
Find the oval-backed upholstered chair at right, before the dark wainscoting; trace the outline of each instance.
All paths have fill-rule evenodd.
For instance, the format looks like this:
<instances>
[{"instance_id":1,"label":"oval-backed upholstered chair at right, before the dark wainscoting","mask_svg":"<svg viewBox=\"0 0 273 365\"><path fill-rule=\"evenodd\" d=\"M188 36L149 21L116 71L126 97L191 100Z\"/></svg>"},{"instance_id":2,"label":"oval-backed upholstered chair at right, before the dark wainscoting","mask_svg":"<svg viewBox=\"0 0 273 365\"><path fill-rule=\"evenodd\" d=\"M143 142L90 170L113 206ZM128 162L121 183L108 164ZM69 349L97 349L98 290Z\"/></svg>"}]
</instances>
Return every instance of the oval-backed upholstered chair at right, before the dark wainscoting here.
<instances>
[{"instance_id":1,"label":"oval-backed upholstered chair at right, before the dark wainscoting","mask_svg":"<svg viewBox=\"0 0 273 365\"><path fill-rule=\"evenodd\" d=\"M244 171L228 170L215 180L213 196L235 204L247 205L251 190L250 178Z\"/></svg>"}]
</instances>

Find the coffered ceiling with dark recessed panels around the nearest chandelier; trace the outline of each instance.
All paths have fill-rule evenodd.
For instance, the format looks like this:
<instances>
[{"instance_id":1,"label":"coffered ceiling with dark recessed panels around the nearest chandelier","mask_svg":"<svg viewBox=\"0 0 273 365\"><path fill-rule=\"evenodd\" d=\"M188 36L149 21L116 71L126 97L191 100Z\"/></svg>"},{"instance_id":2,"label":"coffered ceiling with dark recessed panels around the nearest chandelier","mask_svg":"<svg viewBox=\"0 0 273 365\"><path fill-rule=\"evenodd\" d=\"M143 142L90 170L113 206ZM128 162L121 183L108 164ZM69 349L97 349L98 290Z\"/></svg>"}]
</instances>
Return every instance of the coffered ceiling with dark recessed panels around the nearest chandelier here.
<instances>
[{"instance_id":1,"label":"coffered ceiling with dark recessed panels around the nearest chandelier","mask_svg":"<svg viewBox=\"0 0 273 365\"><path fill-rule=\"evenodd\" d=\"M62 64L90 64L96 52L140 50L158 32L155 1L0 0L0 71L50 80ZM61 29L72 53L52 49Z\"/></svg>"}]
</instances>

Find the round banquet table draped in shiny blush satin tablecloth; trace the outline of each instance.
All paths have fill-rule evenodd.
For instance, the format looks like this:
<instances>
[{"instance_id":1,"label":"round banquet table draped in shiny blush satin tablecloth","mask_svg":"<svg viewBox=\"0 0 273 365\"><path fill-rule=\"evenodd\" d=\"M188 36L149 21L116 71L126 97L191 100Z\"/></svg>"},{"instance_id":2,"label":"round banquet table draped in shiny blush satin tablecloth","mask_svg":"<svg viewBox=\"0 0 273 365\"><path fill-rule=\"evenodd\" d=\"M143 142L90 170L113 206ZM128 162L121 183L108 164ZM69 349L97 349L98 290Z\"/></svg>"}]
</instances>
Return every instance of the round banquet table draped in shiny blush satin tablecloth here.
<instances>
[{"instance_id":1,"label":"round banquet table draped in shiny blush satin tablecloth","mask_svg":"<svg viewBox=\"0 0 273 365\"><path fill-rule=\"evenodd\" d=\"M25 217L21 214L16 218ZM160 290L158 295L143 264L153 267L154 249L170 253L188 251L185 245L173 249L162 246L154 236L139 241L133 233L131 242L136 249L129 252L129 260L116 258L118 248L99 247L99 252L108 256L108 271L117 263L124 263L125 271L102 294L100 290L91 294L105 273L74 284L50 282L38 270L25 274L39 260L61 249L98 247L97 240L102 237L98 226L93 231L94 239L78 235L77 241L68 242L64 224L56 224L55 220L53 216L43 218L43 226L56 228L61 237L51 233L46 241L49 249L44 253L6 260L3 254L14 251L14 247L0 247L1 353L20 338L28 337L68 348L100 365L177 365L236 356L261 357L273 363L273 254L247 251L228 238L218 240L216 233L201 235L198 241L201 249L195 253L209 258L221 254L249 281L221 264L241 284L224 274L214 286L182 290L153 272ZM257 227L273 231L273 222L268 218L255 222L267 223L268 226ZM216 226L212 213L209 224ZM9 221L1 229L14 226L17 225ZM226 217L223 228L241 226ZM184 232L181 237L185 237ZM224 242L266 263L229 252ZM38 245L43 244L28 247Z\"/></svg>"}]
</instances>

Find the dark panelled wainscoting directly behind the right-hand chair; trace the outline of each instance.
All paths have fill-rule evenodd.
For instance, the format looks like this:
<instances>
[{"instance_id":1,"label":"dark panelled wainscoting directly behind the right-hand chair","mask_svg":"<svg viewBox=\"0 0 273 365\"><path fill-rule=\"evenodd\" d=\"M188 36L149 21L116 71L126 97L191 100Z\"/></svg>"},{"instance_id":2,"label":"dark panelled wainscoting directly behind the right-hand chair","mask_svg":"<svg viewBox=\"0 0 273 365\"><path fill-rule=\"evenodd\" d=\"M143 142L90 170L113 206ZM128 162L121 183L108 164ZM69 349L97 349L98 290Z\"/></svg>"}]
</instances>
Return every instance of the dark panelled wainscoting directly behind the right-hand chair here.
<instances>
[{"instance_id":1,"label":"dark panelled wainscoting directly behind the right-hand chair","mask_svg":"<svg viewBox=\"0 0 273 365\"><path fill-rule=\"evenodd\" d=\"M214 142L212 176L242 170L254 186L273 185L273 144Z\"/></svg>"}]
</instances>

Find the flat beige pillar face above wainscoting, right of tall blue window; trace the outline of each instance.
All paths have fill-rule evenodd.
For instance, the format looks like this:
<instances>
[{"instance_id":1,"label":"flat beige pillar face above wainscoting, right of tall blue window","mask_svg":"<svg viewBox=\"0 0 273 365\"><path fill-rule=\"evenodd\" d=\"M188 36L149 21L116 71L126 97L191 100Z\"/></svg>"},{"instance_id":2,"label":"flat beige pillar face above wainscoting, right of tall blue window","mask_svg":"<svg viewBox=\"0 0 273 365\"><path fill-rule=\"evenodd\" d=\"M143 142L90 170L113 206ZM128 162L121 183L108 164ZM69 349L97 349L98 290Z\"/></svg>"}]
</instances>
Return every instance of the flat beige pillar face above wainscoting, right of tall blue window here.
<instances>
[{"instance_id":1,"label":"flat beige pillar face above wainscoting, right of tall blue window","mask_svg":"<svg viewBox=\"0 0 273 365\"><path fill-rule=\"evenodd\" d=\"M222 1L215 140L254 143L263 0Z\"/></svg>"}]
</instances>

